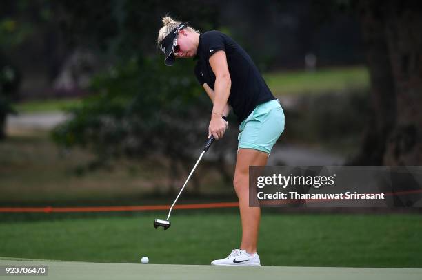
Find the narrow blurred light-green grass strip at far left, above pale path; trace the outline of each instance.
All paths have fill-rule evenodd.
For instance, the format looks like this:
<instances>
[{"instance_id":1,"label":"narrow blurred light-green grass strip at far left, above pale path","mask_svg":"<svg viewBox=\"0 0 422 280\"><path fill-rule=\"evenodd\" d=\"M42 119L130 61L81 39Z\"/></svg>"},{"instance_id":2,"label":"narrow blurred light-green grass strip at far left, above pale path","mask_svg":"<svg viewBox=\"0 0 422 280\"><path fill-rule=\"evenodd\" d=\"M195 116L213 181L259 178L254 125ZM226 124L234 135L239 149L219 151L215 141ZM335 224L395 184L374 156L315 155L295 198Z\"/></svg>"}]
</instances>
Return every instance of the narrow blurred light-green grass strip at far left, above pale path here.
<instances>
[{"instance_id":1,"label":"narrow blurred light-green grass strip at far left, above pale path","mask_svg":"<svg viewBox=\"0 0 422 280\"><path fill-rule=\"evenodd\" d=\"M80 98L32 100L23 103L17 103L14 108L19 113L37 113L46 111L62 111L69 107L81 104Z\"/></svg>"}]
</instances>

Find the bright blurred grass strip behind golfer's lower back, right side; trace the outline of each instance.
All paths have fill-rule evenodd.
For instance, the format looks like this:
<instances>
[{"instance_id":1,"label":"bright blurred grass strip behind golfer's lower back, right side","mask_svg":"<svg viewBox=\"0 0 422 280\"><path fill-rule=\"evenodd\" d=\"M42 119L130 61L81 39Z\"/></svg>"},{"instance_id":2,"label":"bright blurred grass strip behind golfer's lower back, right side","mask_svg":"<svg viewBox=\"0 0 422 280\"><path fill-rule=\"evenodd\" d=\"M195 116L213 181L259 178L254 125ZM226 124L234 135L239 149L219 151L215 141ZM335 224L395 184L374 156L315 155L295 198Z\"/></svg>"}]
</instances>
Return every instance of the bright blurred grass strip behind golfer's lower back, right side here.
<instances>
[{"instance_id":1,"label":"bright blurred grass strip behind golfer's lower back, right side","mask_svg":"<svg viewBox=\"0 0 422 280\"><path fill-rule=\"evenodd\" d=\"M319 69L315 72L275 72L263 76L276 96L359 91L368 89L370 83L368 70L363 66Z\"/></svg>"}]
</instances>

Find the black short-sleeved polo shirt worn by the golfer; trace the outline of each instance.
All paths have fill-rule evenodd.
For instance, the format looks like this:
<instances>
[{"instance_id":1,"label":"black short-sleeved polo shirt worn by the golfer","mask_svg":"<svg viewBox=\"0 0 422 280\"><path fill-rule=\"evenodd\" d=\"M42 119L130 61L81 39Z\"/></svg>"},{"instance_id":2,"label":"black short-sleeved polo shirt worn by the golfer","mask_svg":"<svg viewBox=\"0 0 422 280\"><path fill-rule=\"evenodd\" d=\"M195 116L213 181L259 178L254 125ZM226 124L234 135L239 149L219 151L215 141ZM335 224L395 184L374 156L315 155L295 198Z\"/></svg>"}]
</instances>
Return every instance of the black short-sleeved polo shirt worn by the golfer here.
<instances>
[{"instance_id":1,"label":"black short-sleeved polo shirt worn by the golfer","mask_svg":"<svg viewBox=\"0 0 422 280\"><path fill-rule=\"evenodd\" d=\"M275 99L250 56L229 36L219 31L199 34L195 76L201 85L214 89L215 75L209 59L218 50L224 50L232 80L228 102L239 124L257 105Z\"/></svg>"}]
</instances>

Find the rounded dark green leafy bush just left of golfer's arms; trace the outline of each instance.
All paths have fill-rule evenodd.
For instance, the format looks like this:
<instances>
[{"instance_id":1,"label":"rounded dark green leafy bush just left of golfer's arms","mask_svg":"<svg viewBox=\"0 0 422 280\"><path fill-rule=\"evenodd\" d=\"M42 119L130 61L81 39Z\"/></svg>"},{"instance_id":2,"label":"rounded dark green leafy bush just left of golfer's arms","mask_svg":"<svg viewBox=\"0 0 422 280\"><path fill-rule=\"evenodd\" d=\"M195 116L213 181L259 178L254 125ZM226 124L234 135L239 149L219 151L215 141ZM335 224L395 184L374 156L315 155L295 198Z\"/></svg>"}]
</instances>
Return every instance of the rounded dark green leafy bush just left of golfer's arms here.
<instances>
[{"instance_id":1,"label":"rounded dark green leafy bush just left of golfer's arms","mask_svg":"<svg viewBox=\"0 0 422 280\"><path fill-rule=\"evenodd\" d=\"M165 67L161 57L110 67L92 80L96 94L70 109L74 118L54 130L54 140L88 147L101 160L148 153L187 157L203 144L210 112L188 73L192 67L188 62Z\"/></svg>"}]
</instances>

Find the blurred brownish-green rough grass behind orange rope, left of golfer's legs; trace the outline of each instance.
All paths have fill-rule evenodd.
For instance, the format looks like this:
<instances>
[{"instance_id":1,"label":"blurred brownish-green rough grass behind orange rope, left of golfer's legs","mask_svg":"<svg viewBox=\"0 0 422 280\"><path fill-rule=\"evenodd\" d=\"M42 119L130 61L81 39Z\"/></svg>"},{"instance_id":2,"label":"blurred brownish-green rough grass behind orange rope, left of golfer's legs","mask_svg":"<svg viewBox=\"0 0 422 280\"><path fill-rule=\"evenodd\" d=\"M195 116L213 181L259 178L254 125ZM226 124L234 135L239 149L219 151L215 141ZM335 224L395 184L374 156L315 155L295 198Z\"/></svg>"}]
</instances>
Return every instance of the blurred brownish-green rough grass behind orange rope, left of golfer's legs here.
<instances>
[{"instance_id":1,"label":"blurred brownish-green rough grass behind orange rope, left of golfer's legs","mask_svg":"<svg viewBox=\"0 0 422 280\"><path fill-rule=\"evenodd\" d=\"M136 202L145 193L165 194L170 189L168 167L159 159L116 160L106 169L84 169L92 159L81 149L60 150L45 132L10 136L0 142L0 204ZM205 173L202 169L205 167L200 166L199 172ZM200 178L199 191L219 192L219 187L232 191L230 186L221 186L215 171L208 173ZM187 175L181 174L181 178ZM180 187L183 182L174 185ZM192 184L187 191L194 191Z\"/></svg>"}]
</instances>

